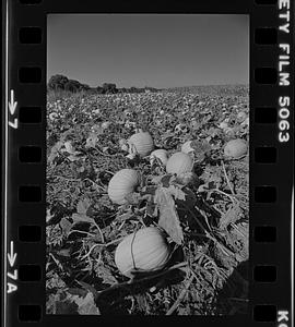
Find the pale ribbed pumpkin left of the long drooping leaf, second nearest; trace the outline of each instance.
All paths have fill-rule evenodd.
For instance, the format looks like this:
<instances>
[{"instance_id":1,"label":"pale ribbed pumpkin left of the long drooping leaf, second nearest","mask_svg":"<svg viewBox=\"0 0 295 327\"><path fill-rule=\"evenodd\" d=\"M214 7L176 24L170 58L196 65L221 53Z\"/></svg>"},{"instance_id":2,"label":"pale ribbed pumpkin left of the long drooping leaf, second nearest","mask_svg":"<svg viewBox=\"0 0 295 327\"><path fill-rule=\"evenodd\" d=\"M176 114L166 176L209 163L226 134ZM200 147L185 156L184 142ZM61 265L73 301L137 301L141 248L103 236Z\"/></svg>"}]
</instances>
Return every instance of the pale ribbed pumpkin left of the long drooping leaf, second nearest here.
<instances>
[{"instance_id":1,"label":"pale ribbed pumpkin left of the long drooping leaf, second nearest","mask_svg":"<svg viewBox=\"0 0 295 327\"><path fill-rule=\"evenodd\" d=\"M139 185L139 174L134 169L121 169L114 174L108 183L109 198L119 205L126 204L126 196L134 192Z\"/></svg>"}]
</instances>

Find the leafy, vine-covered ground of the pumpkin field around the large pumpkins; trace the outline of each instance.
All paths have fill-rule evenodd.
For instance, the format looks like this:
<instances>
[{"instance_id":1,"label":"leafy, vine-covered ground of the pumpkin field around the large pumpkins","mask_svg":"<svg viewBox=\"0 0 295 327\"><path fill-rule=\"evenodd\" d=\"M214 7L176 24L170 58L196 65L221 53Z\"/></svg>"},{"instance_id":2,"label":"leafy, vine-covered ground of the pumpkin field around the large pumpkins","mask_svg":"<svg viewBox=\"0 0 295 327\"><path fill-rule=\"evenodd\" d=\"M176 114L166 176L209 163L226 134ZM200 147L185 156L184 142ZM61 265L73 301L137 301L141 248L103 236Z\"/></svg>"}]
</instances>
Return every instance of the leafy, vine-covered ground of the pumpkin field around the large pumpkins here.
<instances>
[{"instance_id":1,"label":"leafy, vine-covered ground of the pumpkin field around the large pumpkins","mask_svg":"<svg viewBox=\"0 0 295 327\"><path fill-rule=\"evenodd\" d=\"M247 86L48 95L47 314L246 313L249 158L228 158L224 146L248 143L248 100ZM193 174L179 180L158 160L128 154L120 140L137 129L169 156L193 140ZM118 205L108 183L123 168L141 183ZM116 247L149 226L165 230L170 258L129 279Z\"/></svg>"}]
</instances>

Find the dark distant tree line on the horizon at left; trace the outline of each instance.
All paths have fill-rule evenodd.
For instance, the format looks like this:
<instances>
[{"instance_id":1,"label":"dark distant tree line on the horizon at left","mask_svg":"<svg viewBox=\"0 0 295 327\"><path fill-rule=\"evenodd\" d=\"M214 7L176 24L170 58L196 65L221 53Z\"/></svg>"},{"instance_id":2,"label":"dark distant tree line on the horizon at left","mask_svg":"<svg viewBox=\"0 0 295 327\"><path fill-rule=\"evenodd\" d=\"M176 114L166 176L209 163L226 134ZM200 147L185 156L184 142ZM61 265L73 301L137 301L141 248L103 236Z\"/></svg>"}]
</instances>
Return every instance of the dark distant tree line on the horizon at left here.
<instances>
[{"instance_id":1,"label":"dark distant tree line on the horizon at left","mask_svg":"<svg viewBox=\"0 0 295 327\"><path fill-rule=\"evenodd\" d=\"M117 93L149 93L157 92L160 89L154 87L130 87L130 88L117 88L117 85L114 83L104 83L102 86L90 87L87 84L82 84L75 80L69 80L67 76L57 74L50 77L47 84L48 90L67 90L71 93L78 92L88 92L96 94L117 94Z\"/></svg>"}]
</instances>

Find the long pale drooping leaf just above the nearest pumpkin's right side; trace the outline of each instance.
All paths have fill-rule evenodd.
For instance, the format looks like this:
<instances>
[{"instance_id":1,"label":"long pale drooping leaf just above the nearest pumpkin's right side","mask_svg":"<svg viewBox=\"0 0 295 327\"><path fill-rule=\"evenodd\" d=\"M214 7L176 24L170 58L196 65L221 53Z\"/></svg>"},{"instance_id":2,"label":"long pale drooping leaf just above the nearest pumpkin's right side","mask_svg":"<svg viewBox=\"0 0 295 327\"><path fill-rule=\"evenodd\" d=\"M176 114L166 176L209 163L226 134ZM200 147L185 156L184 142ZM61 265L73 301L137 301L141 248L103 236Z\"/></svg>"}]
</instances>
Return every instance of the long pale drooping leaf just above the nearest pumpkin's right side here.
<instances>
[{"instance_id":1,"label":"long pale drooping leaf just above the nearest pumpkin's right side","mask_svg":"<svg viewBox=\"0 0 295 327\"><path fill-rule=\"evenodd\" d=\"M155 193L154 202L160 209L158 226L162 227L177 244L184 241L184 233L180 227L175 202L166 187L158 187Z\"/></svg>"}]
</instances>

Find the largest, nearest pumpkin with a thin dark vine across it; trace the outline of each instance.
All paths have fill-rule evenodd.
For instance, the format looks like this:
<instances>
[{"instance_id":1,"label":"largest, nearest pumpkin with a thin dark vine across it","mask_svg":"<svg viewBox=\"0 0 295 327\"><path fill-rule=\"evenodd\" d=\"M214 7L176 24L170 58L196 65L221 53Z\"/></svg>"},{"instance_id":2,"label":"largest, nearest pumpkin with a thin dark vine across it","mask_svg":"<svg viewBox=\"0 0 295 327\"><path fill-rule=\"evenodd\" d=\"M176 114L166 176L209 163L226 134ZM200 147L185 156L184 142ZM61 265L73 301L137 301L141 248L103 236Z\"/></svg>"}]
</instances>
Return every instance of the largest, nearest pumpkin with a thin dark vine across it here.
<instances>
[{"instance_id":1,"label":"largest, nearest pumpkin with a thin dark vine across it","mask_svg":"<svg viewBox=\"0 0 295 327\"><path fill-rule=\"evenodd\" d=\"M148 227L127 235L116 249L115 263L129 278L131 271L153 271L163 268L170 255L167 239L156 227Z\"/></svg>"}]
</instances>

